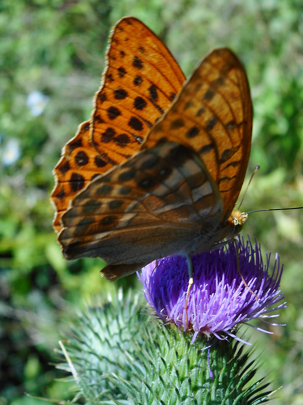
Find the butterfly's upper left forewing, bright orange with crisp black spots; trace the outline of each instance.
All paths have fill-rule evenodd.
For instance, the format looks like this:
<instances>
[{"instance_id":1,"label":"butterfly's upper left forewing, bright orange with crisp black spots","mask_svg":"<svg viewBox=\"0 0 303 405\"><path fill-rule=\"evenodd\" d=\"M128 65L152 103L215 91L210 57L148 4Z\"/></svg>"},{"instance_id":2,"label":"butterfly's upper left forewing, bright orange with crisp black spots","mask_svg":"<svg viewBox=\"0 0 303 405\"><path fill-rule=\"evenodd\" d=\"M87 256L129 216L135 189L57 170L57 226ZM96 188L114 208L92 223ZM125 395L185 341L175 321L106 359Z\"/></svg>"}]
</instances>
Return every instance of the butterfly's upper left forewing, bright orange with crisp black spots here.
<instances>
[{"instance_id":1,"label":"butterfly's upper left forewing, bright orange with crisp black spots","mask_svg":"<svg viewBox=\"0 0 303 405\"><path fill-rule=\"evenodd\" d=\"M162 41L135 18L116 25L110 44L108 68L95 97L92 140L100 150L108 143L111 156L123 157L137 150L185 77ZM106 132L98 126L104 120L109 124Z\"/></svg>"}]
</instances>

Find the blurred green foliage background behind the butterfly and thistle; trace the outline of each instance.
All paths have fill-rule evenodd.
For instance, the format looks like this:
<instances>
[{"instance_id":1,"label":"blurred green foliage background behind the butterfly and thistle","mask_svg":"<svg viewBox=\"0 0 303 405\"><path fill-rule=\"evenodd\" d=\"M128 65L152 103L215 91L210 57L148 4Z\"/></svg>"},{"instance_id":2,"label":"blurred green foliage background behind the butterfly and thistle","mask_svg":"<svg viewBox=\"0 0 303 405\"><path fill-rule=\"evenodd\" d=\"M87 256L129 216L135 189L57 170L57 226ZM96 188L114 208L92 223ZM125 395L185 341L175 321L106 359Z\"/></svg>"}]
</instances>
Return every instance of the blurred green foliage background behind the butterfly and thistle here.
<instances>
[{"instance_id":1,"label":"blurred green foliage background behind the butterfly and thistle","mask_svg":"<svg viewBox=\"0 0 303 405\"><path fill-rule=\"evenodd\" d=\"M123 16L141 19L188 75L216 47L244 63L254 104L245 211L303 205L303 2L301 0L1 0L0 2L0 405L68 399L55 369L58 340L89 296L140 290L115 284L102 262L62 258L52 230L52 170L89 118L107 38ZM247 179L244 185L247 184ZM243 235L284 263L288 308L270 328L249 329L275 404L303 404L303 211L253 213ZM245 332L243 330L243 332Z\"/></svg>"}]
</instances>

